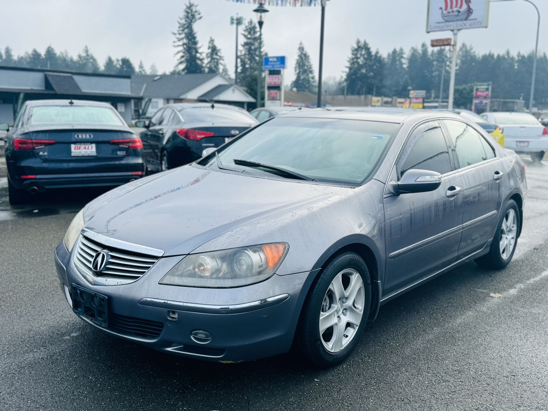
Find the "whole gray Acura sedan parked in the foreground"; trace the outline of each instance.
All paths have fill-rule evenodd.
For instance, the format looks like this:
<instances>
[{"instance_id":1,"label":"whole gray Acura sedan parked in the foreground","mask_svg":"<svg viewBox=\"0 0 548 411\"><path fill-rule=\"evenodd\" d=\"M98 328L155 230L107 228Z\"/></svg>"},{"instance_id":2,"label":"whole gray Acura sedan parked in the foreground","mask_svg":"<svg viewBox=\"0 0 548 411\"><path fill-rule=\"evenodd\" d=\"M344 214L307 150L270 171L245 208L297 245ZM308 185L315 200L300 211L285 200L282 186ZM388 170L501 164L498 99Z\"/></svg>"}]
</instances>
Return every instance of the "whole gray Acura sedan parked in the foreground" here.
<instances>
[{"instance_id":1,"label":"whole gray Acura sedan parked in the foreground","mask_svg":"<svg viewBox=\"0 0 548 411\"><path fill-rule=\"evenodd\" d=\"M338 364L392 298L509 264L523 163L442 112L310 110L96 198L55 250L84 322L182 356Z\"/></svg>"}]
</instances>

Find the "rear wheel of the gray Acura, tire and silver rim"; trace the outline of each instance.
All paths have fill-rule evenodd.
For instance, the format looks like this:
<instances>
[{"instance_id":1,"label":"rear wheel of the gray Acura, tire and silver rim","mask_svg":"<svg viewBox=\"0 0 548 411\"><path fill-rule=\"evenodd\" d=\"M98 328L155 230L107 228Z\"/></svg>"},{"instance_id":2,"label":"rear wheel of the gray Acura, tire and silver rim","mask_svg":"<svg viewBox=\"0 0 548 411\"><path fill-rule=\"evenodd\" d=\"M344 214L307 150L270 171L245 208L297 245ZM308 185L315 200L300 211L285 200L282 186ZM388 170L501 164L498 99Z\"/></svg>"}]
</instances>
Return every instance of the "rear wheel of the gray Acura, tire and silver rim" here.
<instances>
[{"instance_id":1,"label":"rear wheel of the gray Acura, tire and silver rim","mask_svg":"<svg viewBox=\"0 0 548 411\"><path fill-rule=\"evenodd\" d=\"M516 251L519 230L520 209L515 201L509 200L503 208L499 224L496 226L489 253L477 258L476 263L488 269L504 269Z\"/></svg>"}]
</instances>

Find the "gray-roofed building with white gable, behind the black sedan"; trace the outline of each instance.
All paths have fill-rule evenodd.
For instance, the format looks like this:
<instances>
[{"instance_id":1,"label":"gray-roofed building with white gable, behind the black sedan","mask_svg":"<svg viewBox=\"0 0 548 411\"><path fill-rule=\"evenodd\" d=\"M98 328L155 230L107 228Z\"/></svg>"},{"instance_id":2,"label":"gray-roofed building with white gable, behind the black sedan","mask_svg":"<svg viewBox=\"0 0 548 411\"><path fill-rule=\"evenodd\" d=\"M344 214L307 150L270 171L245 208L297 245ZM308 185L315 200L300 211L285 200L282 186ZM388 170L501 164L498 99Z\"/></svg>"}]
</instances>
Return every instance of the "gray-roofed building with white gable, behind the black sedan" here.
<instances>
[{"instance_id":1,"label":"gray-roofed building with white gable, behind the black sedan","mask_svg":"<svg viewBox=\"0 0 548 411\"><path fill-rule=\"evenodd\" d=\"M248 109L255 99L219 74L169 74L132 76L134 117L150 117L166 104L209 102L232 104ZM138 116L136 115L138 113Z\"/></svg>"}]
</instances>

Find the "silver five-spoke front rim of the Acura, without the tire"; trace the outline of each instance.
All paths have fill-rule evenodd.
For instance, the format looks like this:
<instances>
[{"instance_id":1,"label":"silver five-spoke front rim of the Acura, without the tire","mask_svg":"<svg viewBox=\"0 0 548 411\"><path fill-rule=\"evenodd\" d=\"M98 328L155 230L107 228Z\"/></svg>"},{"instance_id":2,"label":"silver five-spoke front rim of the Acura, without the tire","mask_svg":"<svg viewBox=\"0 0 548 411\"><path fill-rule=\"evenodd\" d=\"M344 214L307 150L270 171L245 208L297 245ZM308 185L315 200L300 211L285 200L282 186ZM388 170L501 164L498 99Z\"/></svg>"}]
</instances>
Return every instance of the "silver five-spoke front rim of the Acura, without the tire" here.
<instances>
[{"instance_id":1,"label":"silver five-spoke front rim of the Acura, without the tire","mask_svg":"<svg viewBox=\"0 0 548 411\"><path fill-rule=\"evenodd\" d=\"M342 351L354 338L362 321L365 290L362 276L354 269L339 272L323 298L319 334L330 353Z\"/></svg>"}]
</instances>

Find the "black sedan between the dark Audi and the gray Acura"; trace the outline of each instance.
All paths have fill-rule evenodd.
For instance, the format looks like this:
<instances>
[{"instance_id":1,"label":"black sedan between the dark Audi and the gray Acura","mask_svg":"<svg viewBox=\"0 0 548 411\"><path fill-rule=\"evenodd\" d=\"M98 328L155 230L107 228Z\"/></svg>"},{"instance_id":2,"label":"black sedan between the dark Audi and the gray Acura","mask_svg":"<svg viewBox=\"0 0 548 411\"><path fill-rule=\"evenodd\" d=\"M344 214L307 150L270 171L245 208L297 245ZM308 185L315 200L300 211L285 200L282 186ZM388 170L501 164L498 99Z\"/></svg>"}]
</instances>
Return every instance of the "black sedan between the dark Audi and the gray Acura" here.
<instances>
[{"instance_id":1,"label":"black sedan between the dark Audi and the gray Acura","mask_svg":"<svg viewBox=\"0 0 548 411\"><path fill-rule=\"evenodd\" d=\"M236 106L208 103L170 104L150 122L138 121L146 168L165 171L189 164L210 147L219 147L258 122Z\"/></svg>"}]
</instances>

